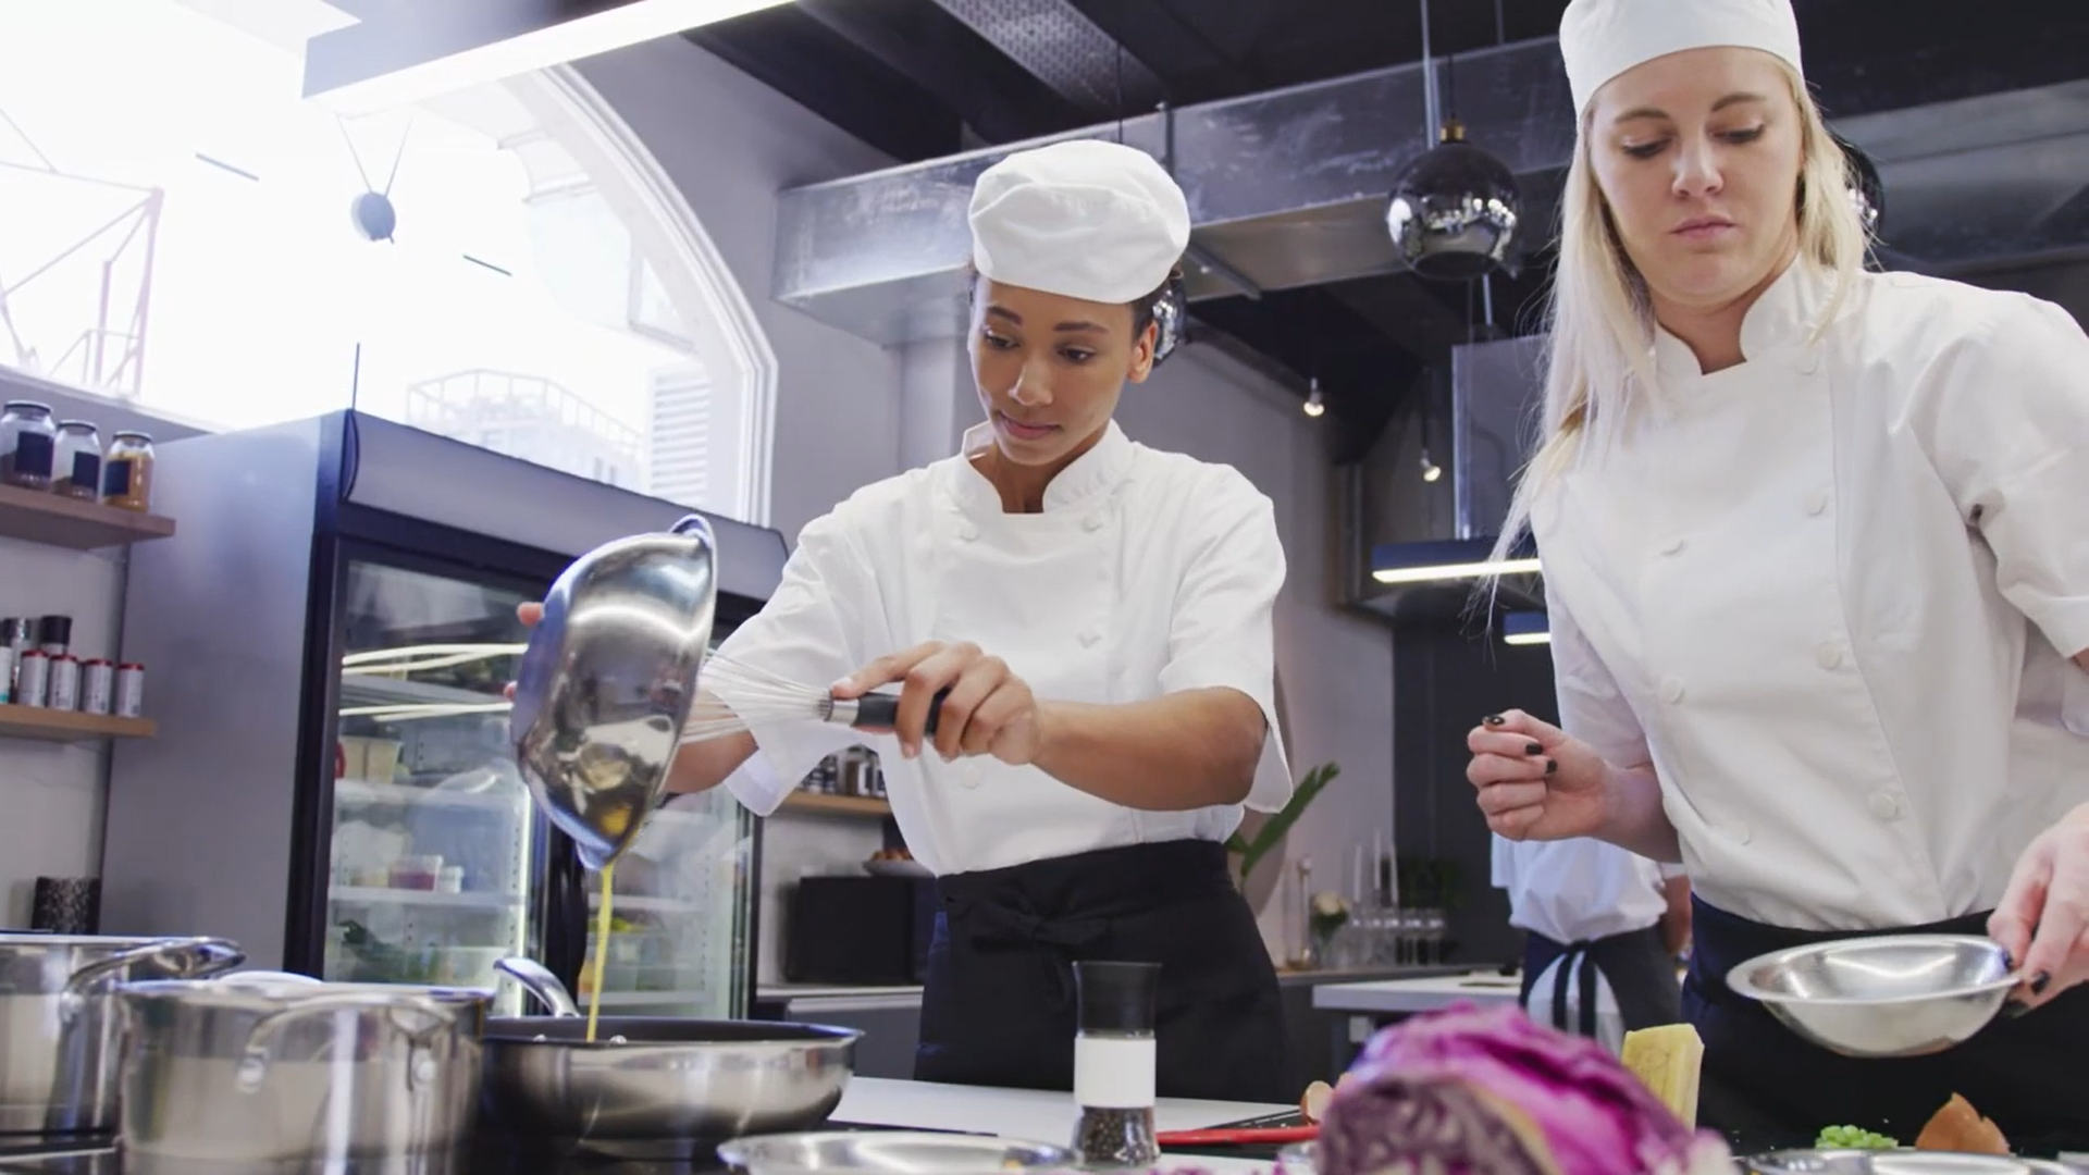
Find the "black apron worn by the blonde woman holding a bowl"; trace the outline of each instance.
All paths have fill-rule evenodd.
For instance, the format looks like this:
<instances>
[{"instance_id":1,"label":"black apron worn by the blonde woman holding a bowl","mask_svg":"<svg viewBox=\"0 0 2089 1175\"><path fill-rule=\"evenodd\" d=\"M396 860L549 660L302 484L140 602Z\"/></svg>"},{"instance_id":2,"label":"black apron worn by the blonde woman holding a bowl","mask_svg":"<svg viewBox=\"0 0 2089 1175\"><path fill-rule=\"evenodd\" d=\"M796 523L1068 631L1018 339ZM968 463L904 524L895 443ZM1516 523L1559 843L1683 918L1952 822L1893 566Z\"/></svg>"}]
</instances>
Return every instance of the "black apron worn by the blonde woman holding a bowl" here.
<instances>
[{"instance_id":1,"label":"black apron worn by the blonde woman holding a bowl","mask_svg":"<svg viewBox=\"0 0 2089 1175\"><path fill-rule=\"evenodd\" d=\"M2074 987L2028 1016L1999 1016L1970 1041L1932 1056L1857 1060L1807 1043L1761 1004L1726 985L1755 955L1876 930L1807 932L1736 918L1692 899L1694 949L1684 1016L1705 1037L1698 1119L1723 1131L1813 1135L1853 1125L1914 1146L1951 1093L1995 1119L2020 1154L2089 1148L2089 989ZM1970 914L1907 932L1987 935Z\"/></svg>"}]
</instances>

